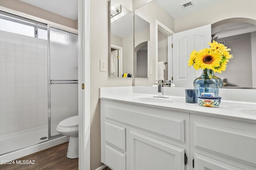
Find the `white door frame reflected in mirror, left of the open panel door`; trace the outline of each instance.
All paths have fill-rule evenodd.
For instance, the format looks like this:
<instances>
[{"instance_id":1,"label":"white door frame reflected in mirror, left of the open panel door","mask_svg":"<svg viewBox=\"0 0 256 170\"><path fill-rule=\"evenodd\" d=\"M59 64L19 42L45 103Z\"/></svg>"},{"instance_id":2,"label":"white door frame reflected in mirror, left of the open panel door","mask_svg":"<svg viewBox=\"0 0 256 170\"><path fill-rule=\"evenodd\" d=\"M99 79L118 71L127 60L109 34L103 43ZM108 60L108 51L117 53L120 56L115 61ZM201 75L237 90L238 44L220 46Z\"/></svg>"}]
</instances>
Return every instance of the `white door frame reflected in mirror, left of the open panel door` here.
<instances>
[{"instance_id":1,"label":"white door frame reflected in mirror, left of the open panel door","mask_svg":"<svg viewBox=\"0 0 256 170\"><path fill-rule=\"evenodd\" d=\"M163 23L156 20L156 77L155 79L158 79L158 31L164 33L168 36L168 80L171 80L172 77L172 34L174 34L174 31L166 27Z\"/></svg>"}]
</instances>

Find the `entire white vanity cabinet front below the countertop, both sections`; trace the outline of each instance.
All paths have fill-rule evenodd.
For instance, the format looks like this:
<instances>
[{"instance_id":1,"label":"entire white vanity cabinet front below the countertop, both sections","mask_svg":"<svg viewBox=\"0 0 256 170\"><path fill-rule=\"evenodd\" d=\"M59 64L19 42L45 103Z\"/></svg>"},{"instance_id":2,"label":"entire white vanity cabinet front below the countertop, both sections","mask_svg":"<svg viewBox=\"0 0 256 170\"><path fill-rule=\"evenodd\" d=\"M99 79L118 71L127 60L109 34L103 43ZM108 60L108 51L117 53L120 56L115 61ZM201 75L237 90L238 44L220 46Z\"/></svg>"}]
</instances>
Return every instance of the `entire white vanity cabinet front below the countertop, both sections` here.
<instances>
[{"instance_id":1,"label":"entire white vanity cabinet front below the countertop, both sections","mask_svg":"<svg viewBox=\"0 0 256 170\"><path fill-rule=\"evenodd\" d=\"M101 160L112 170L256 170L256 123L243 120L101 99Z\"/></svg>"}]
</instances>

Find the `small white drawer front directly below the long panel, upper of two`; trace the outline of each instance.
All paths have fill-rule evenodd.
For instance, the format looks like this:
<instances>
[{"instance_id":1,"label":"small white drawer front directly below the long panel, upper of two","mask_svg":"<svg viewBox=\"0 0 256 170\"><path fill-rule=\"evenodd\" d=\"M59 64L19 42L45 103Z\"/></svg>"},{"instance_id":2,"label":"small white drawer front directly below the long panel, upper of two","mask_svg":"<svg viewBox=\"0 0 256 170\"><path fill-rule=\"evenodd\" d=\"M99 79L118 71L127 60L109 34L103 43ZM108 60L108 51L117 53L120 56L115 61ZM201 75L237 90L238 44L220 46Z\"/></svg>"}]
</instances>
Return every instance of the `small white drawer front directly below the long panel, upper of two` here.
<instances>
[{"instance_id":1,"label":"small white drawer front directly below the long panel, upper of two","mask_svg":"<svg viewBox=\"0 0 256 170\"><path fill-rule=\"evenodd\" d=\"M105 140L125 152L126 142L124 127L105 121Z\"/></svg>"}]
</instances>

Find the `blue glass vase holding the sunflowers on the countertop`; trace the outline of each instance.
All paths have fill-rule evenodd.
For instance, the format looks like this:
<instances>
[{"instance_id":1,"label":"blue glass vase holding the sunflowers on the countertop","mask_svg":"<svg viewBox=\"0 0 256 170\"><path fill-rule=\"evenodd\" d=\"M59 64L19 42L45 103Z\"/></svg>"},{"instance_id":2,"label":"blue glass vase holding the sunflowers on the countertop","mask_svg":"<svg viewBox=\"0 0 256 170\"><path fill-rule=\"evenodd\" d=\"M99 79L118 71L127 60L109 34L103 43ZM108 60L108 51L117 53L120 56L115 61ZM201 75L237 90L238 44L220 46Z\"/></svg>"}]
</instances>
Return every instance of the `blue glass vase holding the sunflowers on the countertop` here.
<instances>
[{"instance_id":1,"label":"blue glass vase holding the sunflowers on the countertop","mask_svg":"<svg viewBox=\"0 0 256 170\"><path fill-rule=\"evenodd\" d=\"M214 96L219 96L219 89L220 86L223 86L223 81L215 76L212 70L206 68L202 75L194 80L193 84L200 96L201 93L214 93Z\"/></svg>"}]
</instances>

